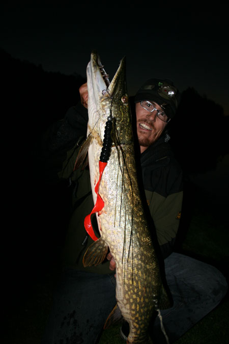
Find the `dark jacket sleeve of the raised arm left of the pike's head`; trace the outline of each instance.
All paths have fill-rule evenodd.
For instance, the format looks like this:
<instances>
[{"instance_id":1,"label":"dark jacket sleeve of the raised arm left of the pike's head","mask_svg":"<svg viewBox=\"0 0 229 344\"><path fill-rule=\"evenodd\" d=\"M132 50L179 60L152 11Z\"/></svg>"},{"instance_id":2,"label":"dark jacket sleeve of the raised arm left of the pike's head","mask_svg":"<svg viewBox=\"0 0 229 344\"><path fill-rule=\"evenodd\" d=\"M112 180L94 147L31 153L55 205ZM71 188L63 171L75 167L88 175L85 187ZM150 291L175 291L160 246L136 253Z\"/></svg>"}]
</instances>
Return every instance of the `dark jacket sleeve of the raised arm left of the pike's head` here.
<instances>
[{"instance_id":1,"label":"dark jacket sleeve of the raised arm left of the pike's head","mask_svg":"<svg viewBox=\"0 0 229 344\"><path fill-rule=\"evenodd\" d=\"M63 162L70 150L87 135L88 110L79 102L62 120L53 123L42 135L39 151L42 177L45 182L60 179Z\"/></svg>"}]
</instances>

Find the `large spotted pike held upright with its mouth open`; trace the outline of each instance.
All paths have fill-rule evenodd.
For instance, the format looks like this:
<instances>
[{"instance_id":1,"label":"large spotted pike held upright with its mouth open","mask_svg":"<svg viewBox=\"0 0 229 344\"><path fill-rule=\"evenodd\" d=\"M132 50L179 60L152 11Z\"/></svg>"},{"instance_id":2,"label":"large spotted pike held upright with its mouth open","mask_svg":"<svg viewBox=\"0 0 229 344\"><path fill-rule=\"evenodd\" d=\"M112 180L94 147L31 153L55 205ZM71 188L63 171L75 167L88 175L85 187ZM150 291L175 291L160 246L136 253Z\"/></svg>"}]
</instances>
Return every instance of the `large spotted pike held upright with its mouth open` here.
<instances>
[{"instance_id":1,"label":"large spotted pike held upright with its mouth open","mask_svg":"<svg viewBox=\"0 0 229 344\"><path fill-rule=\"evenodd\" d=\"M152 313L162 299L165 303L168 299L138 188L125 58L109 82L99 56L93 51L87 67L87 84L86 145L94 213L101 237L95 236L89 215L84 224L95 242L85 252L83 264L99 264L109 248L116 262L117 306L104 328L121 312L130 326L127 342L146 344L151 342L148 326ZM107 161L102 162L102 167L101 156ZM168 306L167 302L164 308Z\"/></svg>"}]
</instances>

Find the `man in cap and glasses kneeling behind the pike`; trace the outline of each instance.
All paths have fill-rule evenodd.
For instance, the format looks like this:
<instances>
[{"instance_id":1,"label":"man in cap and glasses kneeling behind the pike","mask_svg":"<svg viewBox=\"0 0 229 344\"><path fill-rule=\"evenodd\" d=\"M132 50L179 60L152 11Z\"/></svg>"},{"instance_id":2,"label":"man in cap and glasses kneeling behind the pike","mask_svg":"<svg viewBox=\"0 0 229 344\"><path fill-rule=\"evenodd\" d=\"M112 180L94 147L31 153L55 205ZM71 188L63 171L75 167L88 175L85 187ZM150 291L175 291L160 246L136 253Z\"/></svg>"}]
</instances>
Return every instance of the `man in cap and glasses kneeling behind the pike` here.
<instances>
[{"instance_id":1,"label":"man in cap and glasses kneeling behind the pike","mask_svg":"<svg viewBox=\"0 0 229 344\"><path fill-rule=\"evenodd\" d=\"M82 85L79 92L81 103L71 108L65 119L52 127L54 135L46 145L49 162L58 162L56 157L60 152L65 153L58 176L69 178L74 186L72 217L63 250L64 271L54 294L43 340L48 344L96 343L107 316L116 304L115 261L111 255L108 254L107 259L96 267L84 268L82 264L82 256L92 243L83 221L91 213L93 199L88 168L73 172L88 120L87 85ZM173 307L161 311L170 342L177 340L212 310L227 288L218 270L173 252L183 190L182 171L168 145L167 128L176 114L178 99L179 91L174 84L158 79L148 80L134 98L142 189L145 189L148 203L146 213L148 211L151 218L152 235L156 230L154 243L155 246L158 244L158 256L164 258L166 280L174 301ZM95 217L93 226L99 235ZM123 338L128 335L128 327L122 327L121 335ZM154 323L152 337L155 343L166 342L159 319Z\"/></svg>"}]
</instances>

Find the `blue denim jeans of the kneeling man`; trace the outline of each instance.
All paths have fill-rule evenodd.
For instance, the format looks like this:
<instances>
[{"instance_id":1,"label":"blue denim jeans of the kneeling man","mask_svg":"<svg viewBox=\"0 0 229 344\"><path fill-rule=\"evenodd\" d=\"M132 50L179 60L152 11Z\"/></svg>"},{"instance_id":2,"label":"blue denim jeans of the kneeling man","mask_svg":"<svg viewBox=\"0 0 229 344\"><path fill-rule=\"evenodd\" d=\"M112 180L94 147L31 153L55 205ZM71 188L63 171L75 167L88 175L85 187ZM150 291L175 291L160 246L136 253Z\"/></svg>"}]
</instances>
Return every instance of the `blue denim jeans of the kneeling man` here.
<instances>
[{"instance_id":1,"label":"blue denim jeans of the kneeling man","mask_svg":"<svg viewBox=\"0 0 229 344\"><path fill-rule=\"evenodd\" d=\"M220 303L227 282L215 267L180 253L168 256L164 266L174 303L160 312L169 343L173 343ZM53 295L42 344L96 343L115 305L113 273L64 271ZM155 343L166 343L159 317L152 336Z\"/></svg>"}]
</instances>

